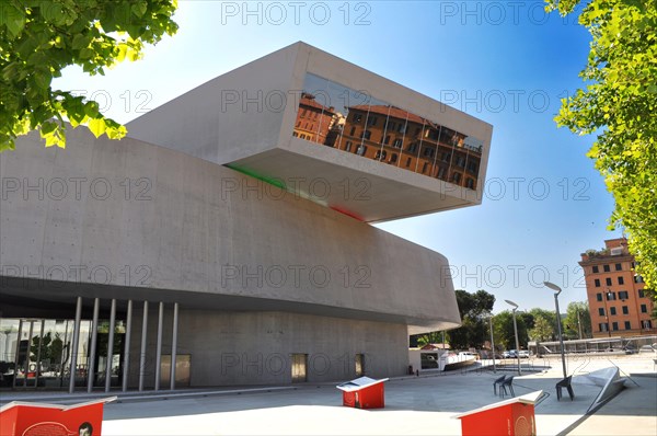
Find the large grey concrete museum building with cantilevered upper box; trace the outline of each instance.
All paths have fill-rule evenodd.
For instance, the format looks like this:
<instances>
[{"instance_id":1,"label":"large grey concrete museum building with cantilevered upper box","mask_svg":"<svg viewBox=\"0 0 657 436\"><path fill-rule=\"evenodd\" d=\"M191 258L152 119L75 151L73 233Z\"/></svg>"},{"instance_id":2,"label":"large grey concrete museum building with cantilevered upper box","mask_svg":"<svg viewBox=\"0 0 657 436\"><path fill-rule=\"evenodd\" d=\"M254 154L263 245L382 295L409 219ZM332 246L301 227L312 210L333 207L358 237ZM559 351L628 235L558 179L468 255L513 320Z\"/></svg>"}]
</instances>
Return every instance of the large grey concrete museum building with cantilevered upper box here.
<instances>
[{"instance_id":1,"label":"large grey concrete museum building with cantilevered upper box","mask_svg":"<svg viewBox=\"0 0 657 436\"><path fill-rule=\"evenodd\" d=\"M370 102L336 103L362 90ZM293 135L302 95L321 111L311 140ZM418 137L477 145L476 183L325 144L362 104L365 125L403 107L427 121ZM480 204L489 125L297 43L128 130L69 130L66 150L32 133L0 154L3 386L389 377L407 371L410 334L460 324L447 259L368 222Z\"/></svg>"}]
</instances>

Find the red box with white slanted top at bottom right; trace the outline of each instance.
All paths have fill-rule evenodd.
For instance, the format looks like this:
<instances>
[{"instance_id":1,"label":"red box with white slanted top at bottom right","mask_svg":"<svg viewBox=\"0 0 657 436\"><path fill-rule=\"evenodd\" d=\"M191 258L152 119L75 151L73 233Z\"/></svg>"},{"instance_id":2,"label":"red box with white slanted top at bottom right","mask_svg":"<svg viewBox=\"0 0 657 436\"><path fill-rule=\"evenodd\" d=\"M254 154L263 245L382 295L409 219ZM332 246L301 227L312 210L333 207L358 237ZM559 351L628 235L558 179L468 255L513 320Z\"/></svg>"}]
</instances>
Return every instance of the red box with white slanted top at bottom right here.
<instances>
[{"instance_id":1,"label":"red box with white slanted top at bottom right","mask_svg":"<svg viewBox=\"0 0 657 436\"><path fill-rule=\"evenodd\" d=\"M463 436L535 436L534 403L543 391L500 401L456 415Z\"/></svg>"}]
</instances>

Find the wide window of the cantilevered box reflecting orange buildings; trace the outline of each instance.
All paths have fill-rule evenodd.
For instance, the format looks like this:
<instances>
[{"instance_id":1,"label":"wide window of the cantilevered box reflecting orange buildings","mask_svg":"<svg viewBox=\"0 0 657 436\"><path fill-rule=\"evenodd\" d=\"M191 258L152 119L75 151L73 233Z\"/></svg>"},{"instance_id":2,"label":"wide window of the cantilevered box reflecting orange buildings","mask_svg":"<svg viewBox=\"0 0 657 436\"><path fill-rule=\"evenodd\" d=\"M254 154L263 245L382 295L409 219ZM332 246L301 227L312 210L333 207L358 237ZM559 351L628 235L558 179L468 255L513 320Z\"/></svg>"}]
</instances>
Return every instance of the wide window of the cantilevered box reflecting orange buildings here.
<instances>
[{"instance_id":1,"label":"wide window of the cantilevered box reflecting orange buildings","mask_svg":"<svg viewBox=\"0 0 657 436\"><path fill-rule=\"evenodd\" d=\"M476 190L483 141L308 73L292 136Z\"/></svg>"}]
</instances>

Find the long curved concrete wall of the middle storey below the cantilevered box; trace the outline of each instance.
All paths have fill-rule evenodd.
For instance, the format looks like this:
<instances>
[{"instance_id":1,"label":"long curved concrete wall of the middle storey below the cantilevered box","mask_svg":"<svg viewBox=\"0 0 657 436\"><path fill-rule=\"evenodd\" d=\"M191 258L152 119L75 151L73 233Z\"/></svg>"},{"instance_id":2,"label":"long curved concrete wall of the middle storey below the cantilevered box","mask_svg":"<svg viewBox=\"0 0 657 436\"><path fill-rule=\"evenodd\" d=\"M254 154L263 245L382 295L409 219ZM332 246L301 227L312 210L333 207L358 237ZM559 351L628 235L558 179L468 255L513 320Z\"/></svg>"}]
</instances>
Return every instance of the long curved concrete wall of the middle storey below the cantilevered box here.
<instances>
[{"instance_id":1,"label":"long curved concrete wall of the middle storey below the cantilevered box","mask_svg":"<svg viewBox=\"0 0 657 436\"><path fill-rule=\"evenodd\" d=\"M77 129L66 150L44 149L34 133L19 138L0 173L0 276L42 268L42 279L110 285L85 297L187 309L231 299L231 310L403 323L410 333L460 322L445 256L201 159Z\"/></svg>"}]
</instances>

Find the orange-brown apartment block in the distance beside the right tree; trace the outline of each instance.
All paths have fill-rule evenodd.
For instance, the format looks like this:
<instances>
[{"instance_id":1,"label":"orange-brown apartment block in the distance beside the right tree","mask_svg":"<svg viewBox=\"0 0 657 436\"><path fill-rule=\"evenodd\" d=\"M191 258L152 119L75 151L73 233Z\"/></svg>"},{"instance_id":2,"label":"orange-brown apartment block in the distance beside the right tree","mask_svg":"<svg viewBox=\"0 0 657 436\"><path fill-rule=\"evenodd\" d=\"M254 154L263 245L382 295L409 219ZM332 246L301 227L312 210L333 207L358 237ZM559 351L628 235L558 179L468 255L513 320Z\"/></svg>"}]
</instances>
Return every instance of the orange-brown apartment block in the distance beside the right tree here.
<instances>
[{"instance_id":1,"label":"orange-brown apartment block in the distance beside the right tree","mask_svg":"<svg viewBox=\"0 0 657 436\"><path fill-rule=\"evenodd\" d=\"M604 241L604 249L581 253L593 337L637 336L657 333L653 300L634 273L627 240Z\"/></svg>"}]
</instances>

